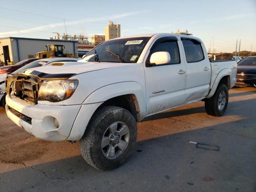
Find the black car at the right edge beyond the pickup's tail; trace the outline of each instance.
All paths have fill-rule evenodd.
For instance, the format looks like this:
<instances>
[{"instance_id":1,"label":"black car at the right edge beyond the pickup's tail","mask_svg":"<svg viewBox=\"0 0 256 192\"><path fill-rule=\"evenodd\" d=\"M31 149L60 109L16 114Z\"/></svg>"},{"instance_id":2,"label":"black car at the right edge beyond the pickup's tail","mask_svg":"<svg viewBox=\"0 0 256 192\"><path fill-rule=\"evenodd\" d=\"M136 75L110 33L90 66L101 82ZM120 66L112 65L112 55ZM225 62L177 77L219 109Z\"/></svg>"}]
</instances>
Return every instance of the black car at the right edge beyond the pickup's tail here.
<instances>
[{"instance_id":1,"label":"black car at the right edge beyond the pickup's tail","mask_svg":"<svg viewBox=\"0 0 256 192\"><path fill-rule=\"evenodd\" d=\"M256 56L243 58L237 67L236 86L256 88Z\"/></svg>"}]
</instances>

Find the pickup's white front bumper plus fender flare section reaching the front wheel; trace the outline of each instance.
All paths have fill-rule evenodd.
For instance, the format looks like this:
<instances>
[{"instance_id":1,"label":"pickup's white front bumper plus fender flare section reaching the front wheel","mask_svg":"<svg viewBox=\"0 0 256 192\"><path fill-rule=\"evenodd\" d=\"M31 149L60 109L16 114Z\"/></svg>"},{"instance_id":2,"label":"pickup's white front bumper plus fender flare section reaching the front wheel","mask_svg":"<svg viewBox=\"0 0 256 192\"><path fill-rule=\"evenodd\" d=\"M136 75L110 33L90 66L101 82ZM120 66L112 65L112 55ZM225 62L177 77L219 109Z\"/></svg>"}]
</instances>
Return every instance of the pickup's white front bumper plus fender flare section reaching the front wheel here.
<instances>
[{"instance_id":1,"label":"pickup's white front bumper plus fender flare section reaching the front wheel","mask_svg":"<svg viewBox=\"0 0 256 192\"><path fill-rule=\"evenodd\" d=\"M48 141L80 140L95 110L102 104L28 104L6 95L6 114L15 124ZM54 118L58 120L56 127Z\"/></svg>"}]
</instances>

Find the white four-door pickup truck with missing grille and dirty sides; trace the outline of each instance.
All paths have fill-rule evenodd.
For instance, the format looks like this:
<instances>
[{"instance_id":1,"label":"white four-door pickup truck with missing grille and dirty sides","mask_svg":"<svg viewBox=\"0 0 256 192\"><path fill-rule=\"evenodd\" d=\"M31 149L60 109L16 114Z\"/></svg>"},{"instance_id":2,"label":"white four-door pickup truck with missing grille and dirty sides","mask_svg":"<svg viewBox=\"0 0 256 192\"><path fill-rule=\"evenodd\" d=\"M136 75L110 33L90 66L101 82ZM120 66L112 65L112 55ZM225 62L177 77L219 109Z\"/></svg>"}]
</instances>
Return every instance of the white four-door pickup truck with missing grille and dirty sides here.
<instances>
[{"instance_id":1,"label":"white four-door pickup truck with missing grille and dirty sides","mask_svg":"<svg viewBox=\"0 0 256 192\"><path fill-rule=\"evenodd\" d=\"M86 60L9 76L6 113L37 138L80 140L82 156L99 170L132 154L136 122L201 100L207 114L222 116L236 83L236 61L209 61L199 38L179 34L108 40Z\"/></svg>"}]
</instances>

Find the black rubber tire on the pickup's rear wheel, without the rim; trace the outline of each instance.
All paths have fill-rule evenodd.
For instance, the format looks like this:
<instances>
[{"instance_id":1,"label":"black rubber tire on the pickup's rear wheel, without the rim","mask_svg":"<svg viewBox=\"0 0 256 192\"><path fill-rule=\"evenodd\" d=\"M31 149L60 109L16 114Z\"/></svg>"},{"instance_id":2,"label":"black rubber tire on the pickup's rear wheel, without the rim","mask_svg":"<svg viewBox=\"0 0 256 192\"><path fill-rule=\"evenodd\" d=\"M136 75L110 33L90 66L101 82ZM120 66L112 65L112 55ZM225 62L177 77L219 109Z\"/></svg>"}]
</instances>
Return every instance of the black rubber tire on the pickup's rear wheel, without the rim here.
<instances>
[{"instance_id":1,"label":"black rubber tire on the pickup's rear wheel, without the rim","mask_svg":"<svg viewBox=\"0 0 256 192\"><path fill-rule=\"evenodd\" d=\"M224 105L224 108L220 111L218 109L218 98L219 98L220 92L222 91L224 91L226 94L226 103ZM227 106L228 106L228 87L225 84L221 84L220 86L218 86L214 95L211 98L206 98L204 102L206 113L212 116L218 116L218 117L222 116L226 111Z\"/></svg>"}]
</instances>

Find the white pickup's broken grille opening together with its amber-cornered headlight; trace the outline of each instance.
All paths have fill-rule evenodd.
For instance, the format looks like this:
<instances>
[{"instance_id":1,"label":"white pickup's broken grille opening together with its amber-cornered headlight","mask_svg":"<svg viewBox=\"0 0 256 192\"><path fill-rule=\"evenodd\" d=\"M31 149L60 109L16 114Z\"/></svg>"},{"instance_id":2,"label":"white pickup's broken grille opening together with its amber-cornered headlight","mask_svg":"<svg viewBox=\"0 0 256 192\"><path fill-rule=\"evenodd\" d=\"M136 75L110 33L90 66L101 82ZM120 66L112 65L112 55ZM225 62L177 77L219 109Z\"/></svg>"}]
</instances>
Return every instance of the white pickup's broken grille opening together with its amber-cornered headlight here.
<instances>
[{"instance_id":1,"label":"white pickup's broken grille opening together with its amber-cornered headlight","mask_svg":"<svg viewBox=\"0 0 256 192\"><path fill-rule=\"evenodd\" d=\"M44 74L36 71L32 73L7 76L7 94L11 98L15 97L36 105L39 100L49 102L66 100L72 96L78 85L78 80L68 79L73 74Z\"/></svg>"}]
</instances>

